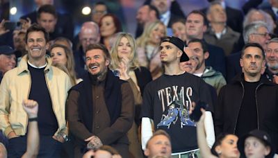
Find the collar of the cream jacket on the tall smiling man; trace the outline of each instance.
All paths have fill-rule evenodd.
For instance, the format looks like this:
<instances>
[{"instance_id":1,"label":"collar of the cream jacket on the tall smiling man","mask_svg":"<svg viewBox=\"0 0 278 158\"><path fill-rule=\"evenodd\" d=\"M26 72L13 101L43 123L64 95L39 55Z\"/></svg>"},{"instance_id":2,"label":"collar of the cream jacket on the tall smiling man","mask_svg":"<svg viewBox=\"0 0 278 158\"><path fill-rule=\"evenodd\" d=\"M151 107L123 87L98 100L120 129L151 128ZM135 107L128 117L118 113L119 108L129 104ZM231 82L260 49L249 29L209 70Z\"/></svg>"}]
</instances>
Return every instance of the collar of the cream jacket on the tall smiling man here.
<instances>
[{"instance_id":1,"label":"collar of the cream jacket on the tall smiling man","mask_svg":"<svg viewBox=\"0 0 278 158\"><path fill-rule=\"evenodd\" d=\"M45 55L45 58L47 60L47 67L45 67L44 72L51 71L51 63L52 63L51 58L49 57L49 55ZM18 64L17 75L26 71L28 72L27 60L28 60L28 55L24 55L24 57Z\"/></svg>"}]
</instances>

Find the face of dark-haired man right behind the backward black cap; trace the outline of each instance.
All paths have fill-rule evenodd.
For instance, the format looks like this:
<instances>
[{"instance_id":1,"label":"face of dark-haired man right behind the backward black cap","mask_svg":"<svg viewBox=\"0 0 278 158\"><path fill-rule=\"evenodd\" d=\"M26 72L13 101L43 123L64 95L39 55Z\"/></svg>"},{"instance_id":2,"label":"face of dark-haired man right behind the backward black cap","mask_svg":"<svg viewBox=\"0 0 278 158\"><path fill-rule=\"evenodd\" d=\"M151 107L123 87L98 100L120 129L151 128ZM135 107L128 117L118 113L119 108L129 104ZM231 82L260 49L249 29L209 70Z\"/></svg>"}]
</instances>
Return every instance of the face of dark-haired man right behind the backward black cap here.
<instances>
[{"instance_id":1,"label":"face of dark-haired man right behind the backward black cap","mask_svg":"<svg viewBox=\"0 0 278 158\"><path fill-rule=\"evenodd\" d=\"M183 71L194 73L196 71L197 65L199 64L199 61L195 53L189 47L186 47L184 51L186 52L186 55L188 55L189 60L186 62L180 62L179 67Z\"/></svg>"}]
</instances>

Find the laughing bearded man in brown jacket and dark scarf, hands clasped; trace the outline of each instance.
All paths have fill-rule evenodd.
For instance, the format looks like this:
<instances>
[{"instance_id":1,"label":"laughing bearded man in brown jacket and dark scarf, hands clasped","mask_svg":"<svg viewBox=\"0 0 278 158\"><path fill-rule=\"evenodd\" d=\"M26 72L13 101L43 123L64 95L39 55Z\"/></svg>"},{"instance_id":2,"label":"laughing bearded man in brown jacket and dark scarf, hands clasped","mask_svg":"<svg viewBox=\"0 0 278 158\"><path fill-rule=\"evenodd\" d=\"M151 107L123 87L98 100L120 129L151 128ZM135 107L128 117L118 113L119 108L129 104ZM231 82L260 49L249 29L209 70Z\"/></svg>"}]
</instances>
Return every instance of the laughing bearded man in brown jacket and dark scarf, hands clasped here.
<instances>
[{"instance_id":1,"label":"laughing bearded man in brown jacket and dark scarf, hands clasped","mask_svg":"<svg viewBox=\"0 0 278 158\"><path fill-rule=\"evenodd\" d=\"M75 157L82 157L86 146L109 145L129 157L126 133L134 117L133 92L129 82L108 69L111 58L103 44L91 44L85 53L88 72L72 87L67 101L67 121L76 137Z\"/></svg>"}]
</instances>

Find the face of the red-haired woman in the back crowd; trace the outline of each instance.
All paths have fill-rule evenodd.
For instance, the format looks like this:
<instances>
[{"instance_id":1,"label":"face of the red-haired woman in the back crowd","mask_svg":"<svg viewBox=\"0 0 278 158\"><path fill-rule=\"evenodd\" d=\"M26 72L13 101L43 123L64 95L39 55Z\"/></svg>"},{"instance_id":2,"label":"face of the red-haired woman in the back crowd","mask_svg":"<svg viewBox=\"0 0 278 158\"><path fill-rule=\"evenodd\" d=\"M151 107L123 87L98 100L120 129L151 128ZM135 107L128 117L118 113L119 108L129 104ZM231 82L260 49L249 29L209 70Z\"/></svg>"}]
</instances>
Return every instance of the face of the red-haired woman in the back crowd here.
<instances>
[{"instance_id":1,"label":"face of the red-haired woman in the back crowd","mask_svg":"<svg viewBox=\"0 0 278 158\"><path fill-rule=\"evenodd\" d=\"M104 17L100 21L100 23L100 35L102 37L109 37L113 35L117 30L113 18L111 16Z\"/></svg>"}]
</instances>

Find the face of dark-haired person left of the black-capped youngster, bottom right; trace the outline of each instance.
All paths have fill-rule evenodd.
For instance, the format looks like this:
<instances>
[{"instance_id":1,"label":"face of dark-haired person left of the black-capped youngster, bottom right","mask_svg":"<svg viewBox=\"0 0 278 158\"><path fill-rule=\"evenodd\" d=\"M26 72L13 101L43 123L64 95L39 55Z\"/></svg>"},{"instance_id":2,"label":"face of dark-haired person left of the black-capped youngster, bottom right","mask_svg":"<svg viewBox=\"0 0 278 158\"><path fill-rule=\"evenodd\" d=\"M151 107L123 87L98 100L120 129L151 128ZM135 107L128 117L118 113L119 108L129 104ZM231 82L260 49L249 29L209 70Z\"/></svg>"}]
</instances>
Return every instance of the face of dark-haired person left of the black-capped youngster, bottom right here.
<instances>
[{"instance_id":1,"label":"face of dark-haired person left of the black-capped youngster, bottom right","mask_svg":"<svg viewBox=\"0 0 278 158\"><path fill-rule=\"evenodd\" d=\"M234 134L228 134L219 146L215 147L215 151L220 153L221 157L240 157L240 152L238 151L238 137Z\"/></svg>"}]
</instances>

